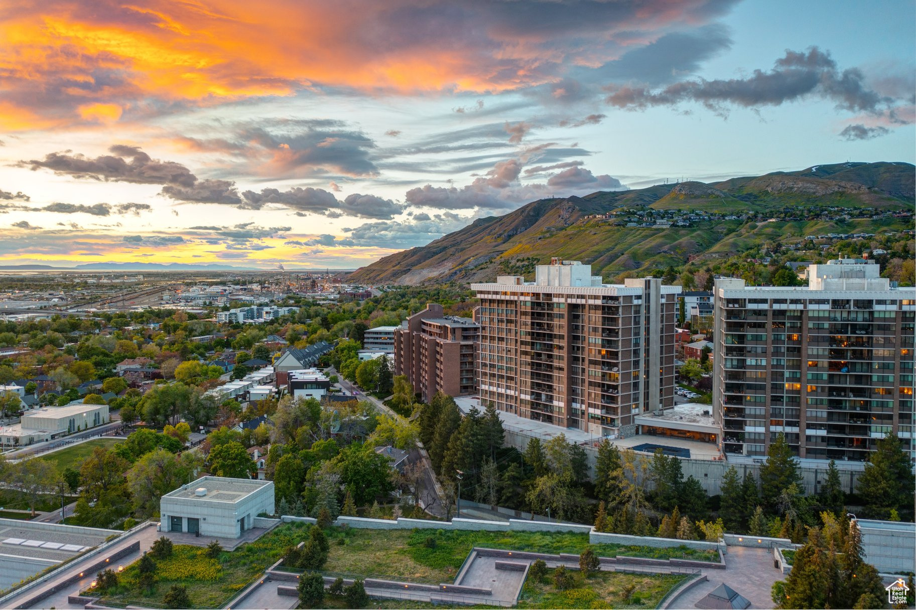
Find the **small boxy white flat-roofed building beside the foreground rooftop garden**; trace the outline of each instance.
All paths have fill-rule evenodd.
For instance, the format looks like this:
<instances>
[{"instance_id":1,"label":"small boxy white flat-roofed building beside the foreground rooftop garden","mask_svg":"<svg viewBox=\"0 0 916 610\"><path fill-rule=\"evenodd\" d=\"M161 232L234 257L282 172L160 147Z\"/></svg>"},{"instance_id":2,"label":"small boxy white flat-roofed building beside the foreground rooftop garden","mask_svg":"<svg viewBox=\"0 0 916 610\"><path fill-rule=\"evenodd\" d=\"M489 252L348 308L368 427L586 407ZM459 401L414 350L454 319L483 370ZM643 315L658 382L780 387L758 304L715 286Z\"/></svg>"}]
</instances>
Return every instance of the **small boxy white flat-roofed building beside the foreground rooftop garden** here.
<instances>
[{"instance_id":1,"label":"small boxy white flat-roofed building beside the foreground rooftop garden","mask_svg":"<svg viewBox=\"0 0 916 610\"><path fill-rule=\"evenodd\" d=\"M162 496L162 531L239 538L261 513L274 514L274 482L204 476Z\"/></svg>"}]
</instances>

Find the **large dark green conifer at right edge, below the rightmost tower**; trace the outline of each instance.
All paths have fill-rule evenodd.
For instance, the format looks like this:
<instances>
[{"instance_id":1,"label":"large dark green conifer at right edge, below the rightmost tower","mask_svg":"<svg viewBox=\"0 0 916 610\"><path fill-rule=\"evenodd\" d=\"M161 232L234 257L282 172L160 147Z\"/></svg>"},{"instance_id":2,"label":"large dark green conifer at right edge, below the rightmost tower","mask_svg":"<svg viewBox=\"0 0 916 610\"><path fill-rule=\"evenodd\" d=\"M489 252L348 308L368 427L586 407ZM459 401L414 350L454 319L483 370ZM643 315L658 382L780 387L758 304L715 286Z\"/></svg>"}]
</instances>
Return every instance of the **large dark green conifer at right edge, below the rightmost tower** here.
<instances>
[{"instance_id":1,"label":"large dark green conifer at right edge, below the rightmost tower","mask_svg":"<svg viewBox=\"0 0 916 610\"><path fill-rule=\"evenodd\" d=\"M868 455L857 489L866 498L868 513L875 517L888 517L891 508L912 510L912 461L896 434L889 432Z\"/></svg>"}]
</instances>

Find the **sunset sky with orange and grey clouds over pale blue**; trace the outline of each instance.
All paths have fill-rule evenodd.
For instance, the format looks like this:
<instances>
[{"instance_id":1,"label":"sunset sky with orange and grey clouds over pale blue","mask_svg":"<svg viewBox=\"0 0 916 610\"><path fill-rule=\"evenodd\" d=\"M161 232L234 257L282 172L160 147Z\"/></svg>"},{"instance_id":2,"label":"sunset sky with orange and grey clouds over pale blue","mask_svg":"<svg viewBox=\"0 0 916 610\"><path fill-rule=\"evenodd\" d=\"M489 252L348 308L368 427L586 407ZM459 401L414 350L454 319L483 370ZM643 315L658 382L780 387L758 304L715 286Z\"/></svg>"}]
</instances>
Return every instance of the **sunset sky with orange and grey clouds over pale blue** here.
<instances>
[{"instance_id":1,"label":"sunset sky with orange and grey clouds over pale blue","mask_svg":"<svg viewBox=\"0 0 916 610\"><path fill-rule=\"evenodd\" d=\"M0 5L0 265L355 268L544 197L916 161L910 0Z\"/></svg>"}]
</instances>

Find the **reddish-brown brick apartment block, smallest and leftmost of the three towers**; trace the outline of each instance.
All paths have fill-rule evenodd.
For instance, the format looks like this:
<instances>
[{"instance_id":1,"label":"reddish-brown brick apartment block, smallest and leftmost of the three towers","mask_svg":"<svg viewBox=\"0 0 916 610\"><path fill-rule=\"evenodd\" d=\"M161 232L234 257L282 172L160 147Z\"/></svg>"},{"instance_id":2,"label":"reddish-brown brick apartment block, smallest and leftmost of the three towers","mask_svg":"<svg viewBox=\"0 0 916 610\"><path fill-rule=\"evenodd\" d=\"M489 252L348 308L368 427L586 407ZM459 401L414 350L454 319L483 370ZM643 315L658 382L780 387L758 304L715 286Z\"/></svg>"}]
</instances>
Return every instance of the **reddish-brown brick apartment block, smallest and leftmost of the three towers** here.
<instances>
[{"instance_id":1,"label":"reddish-brown brick apartment block, smallest and leftmost of the three towers","mask_svg":"<svg viewBox=\"0 0 916 610\"><path fill-rule=\"evenodd\" d=\"M474 394L478 332L474 320L446 316L430 303L394 332L395 375L406 375L427 402L439 391Z\"/></svg>"}]
</instances>

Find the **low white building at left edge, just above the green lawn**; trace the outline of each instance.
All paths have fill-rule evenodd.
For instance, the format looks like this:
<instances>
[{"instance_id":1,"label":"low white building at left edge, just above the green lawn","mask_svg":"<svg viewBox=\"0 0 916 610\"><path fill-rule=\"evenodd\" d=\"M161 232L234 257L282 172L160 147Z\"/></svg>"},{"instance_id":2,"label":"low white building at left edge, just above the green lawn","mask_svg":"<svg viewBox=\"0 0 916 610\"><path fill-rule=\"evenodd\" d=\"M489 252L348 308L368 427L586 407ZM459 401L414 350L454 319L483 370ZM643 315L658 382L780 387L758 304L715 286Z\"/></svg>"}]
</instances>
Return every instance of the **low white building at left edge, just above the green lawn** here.
<instances>
[{"instance_id":1,"label":"low white building at left edge, just above the green lawn","mask_svg":"<svg viewBox=\"0 0 916 610\"><path fill-rule=\"evenodd\" d=\"M30 445L108 423L108 405L67 405L28 411L19 423L0 428L0 445Z\"/></svg>"}]
</instances>

